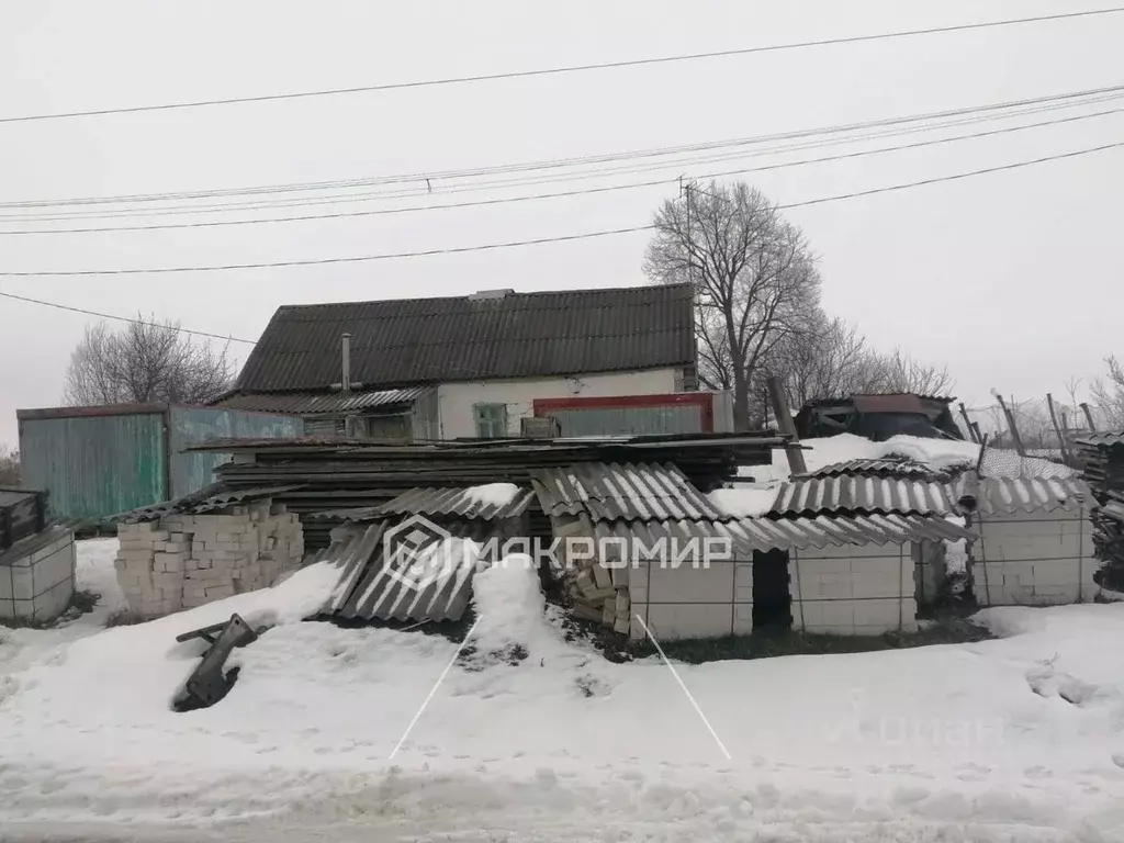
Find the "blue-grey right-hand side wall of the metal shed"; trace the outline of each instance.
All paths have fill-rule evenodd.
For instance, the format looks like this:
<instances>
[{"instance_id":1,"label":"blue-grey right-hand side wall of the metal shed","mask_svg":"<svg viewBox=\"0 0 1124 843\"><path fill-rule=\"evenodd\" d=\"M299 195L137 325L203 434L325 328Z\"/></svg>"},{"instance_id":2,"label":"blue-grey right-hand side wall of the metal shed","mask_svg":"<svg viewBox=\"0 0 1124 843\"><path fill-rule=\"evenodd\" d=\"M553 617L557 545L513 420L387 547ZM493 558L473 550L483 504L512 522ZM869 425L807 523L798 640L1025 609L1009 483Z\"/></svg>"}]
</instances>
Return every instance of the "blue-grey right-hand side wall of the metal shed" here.
<instances>
[{"instance_id":1,"label":"blue-grey right-hand side wall of the metal shed","mask_svg":"<svg viewBox=\"0 0 1124 843\"><path fill-rule=\"evenodd\" d=\"M185 451L216 438L301 436L305 423L297 416L241 410L171 407L169 410L169 480L165 497L180 498L215 481L215 469L228 461L223 453Z\"/></svg>"}]
</instances>

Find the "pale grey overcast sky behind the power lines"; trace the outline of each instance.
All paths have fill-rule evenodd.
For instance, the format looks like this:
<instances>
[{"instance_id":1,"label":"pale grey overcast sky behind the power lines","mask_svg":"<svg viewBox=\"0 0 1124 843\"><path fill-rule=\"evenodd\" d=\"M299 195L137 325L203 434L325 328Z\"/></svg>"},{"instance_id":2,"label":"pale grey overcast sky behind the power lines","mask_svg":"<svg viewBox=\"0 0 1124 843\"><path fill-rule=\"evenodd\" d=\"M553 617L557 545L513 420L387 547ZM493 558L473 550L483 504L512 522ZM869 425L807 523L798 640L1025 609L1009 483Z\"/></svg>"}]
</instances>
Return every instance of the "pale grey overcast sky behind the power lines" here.
<instances>
[{"instance_id":1,"label":"pale grey overcast sky behind the power lines","mask_svg":"<svg viewBox=\"0 0 1124 843\"><path fill-rule=\"evenodd\" d=\"M0 6L0 117L711 52L1098 6L1076 0L9 2ZM1040 97L1124 84L1122 40L1124 15L1113 15L522 80L0 124L0 201L495 166ZM1024 121L1122 106L1114 100ZM939 136L762 156L761 163ZM1124 114L746 178L777 202L798 202L1121 140ZM674 175L661 171L578 187ZM946 364L957 395L975 406L989 402L991 387L1016 398L1061 392L1068 377L1098 374L1105 355L1124 353L1117 316L1124 299L1122 189L1124 149L1112 149L789 215L821 255L826 309L859 324L879 346L900 345ZM0 271L269 262L551 237L644 225L661 199L674 193L669 183L383 217L0 236ZM364 207L401 206L344 203L289 212ZM87 224L230 218L239 217ZM16 227L0 220L0 228ZM0 278L0 291L126 316L152 312L185 327L254 339L282 303L644 283L646 241L640 233L228 273ZM16 442L16 408L60 402L67 357L88 321L0 299L0 443Z\"/></svg>"}]
</instances>

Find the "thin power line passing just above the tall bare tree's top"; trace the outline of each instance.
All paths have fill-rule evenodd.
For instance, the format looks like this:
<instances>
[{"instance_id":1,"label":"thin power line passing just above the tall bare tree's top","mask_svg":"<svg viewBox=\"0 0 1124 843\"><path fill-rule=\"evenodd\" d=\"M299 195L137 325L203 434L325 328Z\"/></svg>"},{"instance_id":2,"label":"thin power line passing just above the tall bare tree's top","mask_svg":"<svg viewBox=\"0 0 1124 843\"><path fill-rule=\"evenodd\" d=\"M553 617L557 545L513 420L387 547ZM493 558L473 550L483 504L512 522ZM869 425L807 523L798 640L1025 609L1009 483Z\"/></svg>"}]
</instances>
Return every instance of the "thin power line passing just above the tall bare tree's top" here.
<instances>
[{"instance_id":1,"label":"thin power line passing just above the tall bare tree's top","mask_svg":"<svg viewBox=\"0 0 1124 843\"><path fill-rule=\"evenodd\" d=\"M899 144L897 146L886 146L878 149L860 149L856 152L843 153L841 155L826 155L818 158L805 158L801 161L786 161L777 164L764 164L762 166L751 166L742 167L740 170L726 170L723 172L714 173L700 173L695 176L697 179L717 179L727 175L742 175L744 173L759 173L770 170L785 170L794 166L806 166L809 164L822 164L833 161L845 161L849 158L861 158L870 155L881 155L889 152L900 152L904 149L918 149L926 146L939 146L941 144L957 143L960 140L970 140L981 137L990 137L994 135L1005 135L1014 132L1024 132L1033 128L1041 128L1043 126L1057 126L1064 123L1075 123L1077 120L1086 120L1094 117L1104 117L1107 115L1116 115L1124 112L1124 108L1107 109L1104 111L1097 111L1088 115L1075 115L1072 117L1063 117L1055 120L1042 120L1039 123L1024 124L1022 126L1008 126L1001 129L989 129L987 132L975 132L968 135L955 135L953 137L942 137L933 138L930 140L917 140L912 144ZM360 210L360 211L341 211L337 214L312 214L296 217L274 217L271 219L225 219L225 220L210 220L205 223L166 223L161 225L151 226L108 226L100 228L35 228L27 229L22 232L18 230L3 230L0 229L0 236L3 235L42 235L42 234L92 234L98 232L154 232L154 230L166 230L174 228L211 228L216 226L238 226L238 225L262 225L266 223L305 223L312 220L324 220L324 219L339 219L347 217L371 217L371 216L387 216L396 214L413 214L418 211L429 211L429 210L450 210L457 208L479 208L484 206L493 205L507 205L510 202L527 202L537 201L541 199L560 199L574 196L588 196L592 193L608 193L618 190L634 190L638 188L651 188L659 187L662 184L674 183L674 179L654 179L651 181L643 182L632 182L627 184L610 184L599 188L583 188L580 190L565 190L553 193L534 193L531 196L522 197L505 197L500 199L478 199L465 202L447 202L444 205L423 205L416 208L380 208L374 210Z\"/></svg>"}]
</instances>

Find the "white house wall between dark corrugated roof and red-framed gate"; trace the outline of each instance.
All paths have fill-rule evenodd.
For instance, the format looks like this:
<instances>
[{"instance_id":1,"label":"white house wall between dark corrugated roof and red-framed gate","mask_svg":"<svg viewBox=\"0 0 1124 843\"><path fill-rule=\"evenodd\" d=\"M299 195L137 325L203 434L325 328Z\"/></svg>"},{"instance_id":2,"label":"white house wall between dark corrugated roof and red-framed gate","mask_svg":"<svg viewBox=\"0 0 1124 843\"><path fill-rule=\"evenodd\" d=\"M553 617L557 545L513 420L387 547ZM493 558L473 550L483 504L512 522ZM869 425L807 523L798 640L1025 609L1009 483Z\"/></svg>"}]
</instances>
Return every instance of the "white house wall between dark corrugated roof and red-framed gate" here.
<instances>
[{"instance_id":1,"label":"white house wall between dark corrugated roof and red-framed gate","mask_svg":"<svg viewBox=\"0 0 1124 843\"><path fill-rule=\"evenodd\" d=\"M674 368L642 372L582 374L572 378L502 379L471 383L442 383L437 388L441 437L475 436L472 406L507 405L508 434L519 435L519 419L534 416L536 398L608 398L676 392Z\"/></svg>"}]
</instances>

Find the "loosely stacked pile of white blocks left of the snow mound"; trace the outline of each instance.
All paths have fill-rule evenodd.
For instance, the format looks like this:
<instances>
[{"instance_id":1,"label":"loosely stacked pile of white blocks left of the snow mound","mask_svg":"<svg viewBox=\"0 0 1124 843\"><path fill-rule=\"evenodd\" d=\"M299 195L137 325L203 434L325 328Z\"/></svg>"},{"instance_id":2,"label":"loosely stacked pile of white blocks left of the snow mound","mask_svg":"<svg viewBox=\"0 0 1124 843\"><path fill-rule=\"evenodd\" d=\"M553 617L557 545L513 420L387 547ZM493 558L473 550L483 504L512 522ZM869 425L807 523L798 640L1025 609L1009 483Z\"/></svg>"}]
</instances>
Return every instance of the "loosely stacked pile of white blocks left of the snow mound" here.
<instances>
[{"instance_id":1,"label":"loosely stacked pile of white blocks left of the snow mound","mask_svg":"<svg viewBox=\"0 0 1124 843\"><path fill-rule=\"evenodd\" d=\"M269 500L123 524L118 534L118 581L142 617L266 588L305 555L297 516Z\"/></svg>"}]
</instances>

